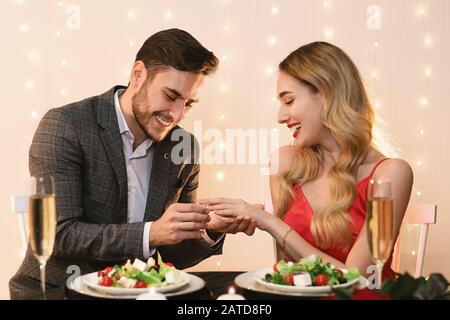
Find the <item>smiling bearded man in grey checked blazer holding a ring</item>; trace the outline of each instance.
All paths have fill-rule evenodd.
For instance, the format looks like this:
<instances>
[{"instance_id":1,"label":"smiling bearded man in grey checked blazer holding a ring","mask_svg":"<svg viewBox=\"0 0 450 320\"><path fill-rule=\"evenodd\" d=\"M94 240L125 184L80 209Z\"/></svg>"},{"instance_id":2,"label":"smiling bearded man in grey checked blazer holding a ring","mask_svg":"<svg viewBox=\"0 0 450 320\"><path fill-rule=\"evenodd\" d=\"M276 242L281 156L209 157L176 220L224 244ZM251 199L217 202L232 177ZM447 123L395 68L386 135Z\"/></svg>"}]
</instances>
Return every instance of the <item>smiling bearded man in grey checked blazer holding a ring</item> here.
<instances>
[{"instance_id":1,"label":"smiling bearded man in grey checked blazer holding a ring","mask_svg":"<svg viewBox=\"0 0 450 320\"><path fill-rule=\"evenodd\" d=\"M253 234L253 220L224 220L196 204L195 138L178 126L217 65L214 54L187 32L161 31L139 50L128 87L44 116L29 164L32 176L55 177L57 234L47 263L49 288L65 286L70 265L89 273L159 252L186 268L221 254L224 233ZM173 159L175 132L193 141L182 152L184 161ZM39 294L39 279L28 249L10 281L11 298Z\"/></svg>"}]
</instances>

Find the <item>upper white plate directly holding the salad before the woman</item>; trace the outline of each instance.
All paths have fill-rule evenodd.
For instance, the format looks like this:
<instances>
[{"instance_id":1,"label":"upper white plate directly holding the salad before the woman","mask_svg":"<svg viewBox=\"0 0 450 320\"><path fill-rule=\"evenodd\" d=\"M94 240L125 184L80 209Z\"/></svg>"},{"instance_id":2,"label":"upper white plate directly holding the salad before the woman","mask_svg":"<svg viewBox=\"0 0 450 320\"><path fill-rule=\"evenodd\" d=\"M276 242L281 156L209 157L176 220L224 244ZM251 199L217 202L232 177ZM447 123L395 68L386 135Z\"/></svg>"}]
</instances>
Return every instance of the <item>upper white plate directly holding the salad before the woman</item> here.
<instances>
[{"instance_id":1,"label":"upper white plate directly holding the salad before the woman","mask_svg":"<svg viewBox=\"0 0 450 320\"><path fill-rule=\"evenodd\" d=\"M281 285L281 284L274 284L270 282L264 281L264 277L267 273L272 273L273 269L267 268L262 269L259 271L256 271L253 273L253 280L257 282L258 284L270 288L275 291L280 292L287 292L287 293L302 293L302 294L322 294L322 293L331 293L331 286L310 286L310 287L295 287L295 286L288 286L288 285ZM339 284L333 286L333 288L348 288L353 286L354 284L358 283L360 280L360 277L353 279L352 281L349 281L347 283Z\"/></svg>"}]
</instances>

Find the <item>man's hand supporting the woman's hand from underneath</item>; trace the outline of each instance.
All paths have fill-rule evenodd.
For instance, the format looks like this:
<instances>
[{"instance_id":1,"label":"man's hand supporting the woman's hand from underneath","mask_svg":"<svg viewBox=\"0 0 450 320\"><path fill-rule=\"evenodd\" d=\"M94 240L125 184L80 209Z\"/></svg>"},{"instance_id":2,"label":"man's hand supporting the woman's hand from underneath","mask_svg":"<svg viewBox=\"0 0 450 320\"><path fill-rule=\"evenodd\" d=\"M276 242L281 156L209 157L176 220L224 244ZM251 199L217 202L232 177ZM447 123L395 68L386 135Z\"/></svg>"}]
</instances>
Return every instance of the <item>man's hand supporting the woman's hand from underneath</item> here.
<instances>
[{"instance_id":1,"label":"man's hand supporting the woman's hand from underneath","mask_svg":"<svg viewBox=\"0 0 450 320\"><path fill-rule=\"evenodd\" d=\"M250 217L224 218L213 212L210 214L211 221L208 223L207 229L220 233L238 233L244 232L248 236L255 233L256 221Z\"/></svg>"}]
</instances>

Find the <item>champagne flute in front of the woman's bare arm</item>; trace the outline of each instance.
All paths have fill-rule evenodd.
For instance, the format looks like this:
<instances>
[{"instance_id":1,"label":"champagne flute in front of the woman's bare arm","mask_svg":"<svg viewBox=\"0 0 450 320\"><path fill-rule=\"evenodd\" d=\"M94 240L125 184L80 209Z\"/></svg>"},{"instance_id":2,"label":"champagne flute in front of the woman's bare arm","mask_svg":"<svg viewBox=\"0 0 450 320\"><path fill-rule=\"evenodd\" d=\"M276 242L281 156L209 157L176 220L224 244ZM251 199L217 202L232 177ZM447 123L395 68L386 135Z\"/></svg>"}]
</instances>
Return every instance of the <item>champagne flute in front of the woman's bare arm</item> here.
<instances>
[{"instance_id":1,"label":"champagne flute in front of the woman's bare arm","mask_svg":"<svg viewBox=\"0 0 450 320\"><path fill-rule=\"evenodd\" d=\"M394 244L394 213L389 180L371 180L367 190L367 230L370 252L377 267L377 289L381 288L383 266Z\"/></svg>"}]
</instances>

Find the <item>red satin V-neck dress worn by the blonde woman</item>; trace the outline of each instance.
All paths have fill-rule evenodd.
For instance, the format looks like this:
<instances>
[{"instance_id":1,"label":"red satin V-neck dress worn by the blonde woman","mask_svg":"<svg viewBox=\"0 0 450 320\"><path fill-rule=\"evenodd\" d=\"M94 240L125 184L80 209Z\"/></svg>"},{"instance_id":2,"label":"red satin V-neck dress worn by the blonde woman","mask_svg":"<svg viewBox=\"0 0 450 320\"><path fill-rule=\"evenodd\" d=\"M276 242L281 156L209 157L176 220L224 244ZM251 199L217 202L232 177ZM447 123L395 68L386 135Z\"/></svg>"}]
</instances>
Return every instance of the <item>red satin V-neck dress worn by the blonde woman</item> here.
<instances>
[{"instance_id":1,"label":"red satin V-neck dress worn by the blonde woman","mask_svg":"<svg viewBox=\"0 0 450 320\"><path fill-rule=\"evenodd\" d=\"M291 205L288 207L286 214L283 217L284 222L287 223L292 229L294 229L303 239L308 241L311 245L323 251L324 253L332 256L333 258L341 261L342 263L345 263L345 261L347 260L347 256L351 250L351 247L353 247L353 244L355 243L366 221L367 186L375 170L384 160L387 159L379 161L372 169L370 175L360 180L357 184L358 189L357 195L348 211L348 214L353 220L353 224L350 225L350 230L352 233L352 242L350 249L343 250L341 248L329 248L329 249L318 248L310 229L310 224L314 214L314 210L309 205L300 185L298 184L294 186L295 199L294 201L292 201ZM391 269L391 262L392 262L392 254L389 260L384 265L383 279L395 278L396 273Z\"/></svg>"}]
</instances>

